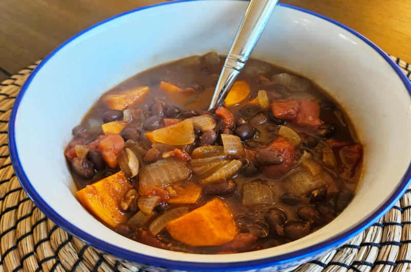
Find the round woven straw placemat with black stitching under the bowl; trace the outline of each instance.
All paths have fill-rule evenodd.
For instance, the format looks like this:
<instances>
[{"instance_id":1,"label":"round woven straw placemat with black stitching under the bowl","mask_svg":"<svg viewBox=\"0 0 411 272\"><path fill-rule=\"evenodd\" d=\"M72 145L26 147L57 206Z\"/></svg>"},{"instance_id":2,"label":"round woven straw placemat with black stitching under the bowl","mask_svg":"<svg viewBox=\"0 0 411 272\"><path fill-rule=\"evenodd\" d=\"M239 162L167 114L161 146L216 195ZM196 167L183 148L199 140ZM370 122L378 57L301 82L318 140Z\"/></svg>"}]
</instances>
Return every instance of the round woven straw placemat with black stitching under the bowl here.
<instances>
[{"instance_id":1,"label":"round woven straw placemat with black stitching under the bowl","mask_svg":"<svg viewBox=\"0 0 411 272\"><path fill-rule=\"evenodd\" d=\"M411 67L393 60L411 80ZM55 225L28 198L11 166L7 128L18 91L40 61L0 84L0 272L143 272ZM411 187L380 220L294 272L411 271Z\"/></svg>"}]
</instances>

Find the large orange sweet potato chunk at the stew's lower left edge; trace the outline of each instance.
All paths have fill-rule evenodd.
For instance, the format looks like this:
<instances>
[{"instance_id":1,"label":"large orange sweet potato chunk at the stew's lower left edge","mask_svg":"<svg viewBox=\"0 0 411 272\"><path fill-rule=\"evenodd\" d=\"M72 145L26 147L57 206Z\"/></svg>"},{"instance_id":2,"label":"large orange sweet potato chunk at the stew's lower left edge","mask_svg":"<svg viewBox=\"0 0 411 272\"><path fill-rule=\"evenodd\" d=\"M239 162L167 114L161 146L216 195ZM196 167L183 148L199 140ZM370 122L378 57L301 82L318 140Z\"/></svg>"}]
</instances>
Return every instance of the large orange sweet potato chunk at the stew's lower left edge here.
<instances>
[{"instance_id":1,"label":"large orange sweet potato chunk at the stew's lower left edge","mask_svg":"<svg viewBox=\"0 0 411 272\"><path fill-rule=\"evenodd\" d=\"M122 171L104 178L77 192L83 206L103 222L116 227L128 215L121 210L120 203L132 185Z\"/></svg>"}]
</instances>

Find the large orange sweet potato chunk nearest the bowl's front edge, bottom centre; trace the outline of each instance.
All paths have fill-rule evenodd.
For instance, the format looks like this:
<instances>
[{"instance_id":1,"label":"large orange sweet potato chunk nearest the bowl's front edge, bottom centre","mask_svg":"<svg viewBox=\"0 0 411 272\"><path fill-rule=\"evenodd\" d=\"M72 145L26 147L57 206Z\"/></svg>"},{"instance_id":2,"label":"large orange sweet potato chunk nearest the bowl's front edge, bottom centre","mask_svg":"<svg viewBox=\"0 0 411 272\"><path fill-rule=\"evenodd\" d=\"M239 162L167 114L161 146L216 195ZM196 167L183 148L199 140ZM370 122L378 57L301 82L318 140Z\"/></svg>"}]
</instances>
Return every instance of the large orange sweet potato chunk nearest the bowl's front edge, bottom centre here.
<instances>
[{"instance_id":1,"label":"large orange sweet potato chunk nearest the bowl's front edge, bottom centre","mask_svg":"<svg viewBox=\"0 0 411 272\"><path fill-rule=\"evenodd\" d=\"M221 245L238 233L229 207L220 198L170 222L166 229L174 239L191 246Z\"/></svg>"}]
</instances>

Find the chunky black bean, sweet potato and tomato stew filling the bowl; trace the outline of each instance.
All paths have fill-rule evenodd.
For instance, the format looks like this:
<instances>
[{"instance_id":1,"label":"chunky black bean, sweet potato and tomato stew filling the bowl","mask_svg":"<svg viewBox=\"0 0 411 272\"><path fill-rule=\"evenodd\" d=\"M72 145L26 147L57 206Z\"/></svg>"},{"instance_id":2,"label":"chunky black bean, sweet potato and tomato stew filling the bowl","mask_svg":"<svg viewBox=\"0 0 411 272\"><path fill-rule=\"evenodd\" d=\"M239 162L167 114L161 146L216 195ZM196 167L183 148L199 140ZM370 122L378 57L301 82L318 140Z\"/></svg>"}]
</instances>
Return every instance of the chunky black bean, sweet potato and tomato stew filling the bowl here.
<instances>
[{"instance_id":1,"label":"chunky black bean, sweet potato and tomato stew filling the bowl","mask_svg":"<svg viewBox=\"0 0 411 272\"><path fill-rule=\"evenodd\" d=\"M312 82L250 60L215 112L224 58L141 72L103 94L65 157L83 206L154 247L229 254L303 238L341 213L363 147Z\"/></svg>"}]
</instances>

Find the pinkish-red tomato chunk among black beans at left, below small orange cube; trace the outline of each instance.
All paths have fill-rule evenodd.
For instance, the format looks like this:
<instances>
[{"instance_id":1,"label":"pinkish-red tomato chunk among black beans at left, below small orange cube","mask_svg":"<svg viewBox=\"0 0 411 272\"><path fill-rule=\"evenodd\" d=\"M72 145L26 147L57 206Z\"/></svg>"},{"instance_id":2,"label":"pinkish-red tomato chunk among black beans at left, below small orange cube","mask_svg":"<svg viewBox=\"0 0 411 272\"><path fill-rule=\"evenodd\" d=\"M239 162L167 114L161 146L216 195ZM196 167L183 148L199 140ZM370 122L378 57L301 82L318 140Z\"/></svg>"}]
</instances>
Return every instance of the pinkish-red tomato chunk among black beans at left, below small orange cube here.
<instances>
[{"instance_id":1,"label":"pinkish-red tomato chunk among black beans at left, below small orange cube","mask_svg":"<svg viewBox=\"0 0 411 272\"><path fill-rule=\"evenodd\" d=\"M103 140L100 142L100 148L103 153L103 159L111 168L116 168L119 163L117 156L124 147L124 140L118 134L109 134L102 136Z\"/></svg>"}]
</instances>

